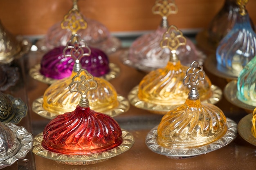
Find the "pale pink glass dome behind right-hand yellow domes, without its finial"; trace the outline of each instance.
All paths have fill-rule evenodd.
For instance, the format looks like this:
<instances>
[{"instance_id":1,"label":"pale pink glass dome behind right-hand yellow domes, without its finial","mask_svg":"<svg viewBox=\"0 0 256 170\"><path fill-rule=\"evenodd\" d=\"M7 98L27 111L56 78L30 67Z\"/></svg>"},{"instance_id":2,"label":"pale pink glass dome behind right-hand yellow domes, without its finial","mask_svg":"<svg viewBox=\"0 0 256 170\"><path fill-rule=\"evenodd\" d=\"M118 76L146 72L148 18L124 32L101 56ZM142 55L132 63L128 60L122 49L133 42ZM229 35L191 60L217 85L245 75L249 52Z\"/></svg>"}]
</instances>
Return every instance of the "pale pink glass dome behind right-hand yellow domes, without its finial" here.
<instances>
[{"instance_id":1,"label":"pale pink glass dome behind right-hand yellow domes, without its finial","mask_svg":"<svg viewBox=\"0 0 256 170\"><path fill-rule=\"evenodd\" d=\"M167 30L168 28L158 26L156 31L137 38L129 48L129 60L153 69L165 67L169 61L171 51L162 49L159 44ZM176 54L185 66L189 66L194 60L202 61L204 59L189 38L186 38L186 45L180 46L176 50Z\"/></svg>"}]
</instances>

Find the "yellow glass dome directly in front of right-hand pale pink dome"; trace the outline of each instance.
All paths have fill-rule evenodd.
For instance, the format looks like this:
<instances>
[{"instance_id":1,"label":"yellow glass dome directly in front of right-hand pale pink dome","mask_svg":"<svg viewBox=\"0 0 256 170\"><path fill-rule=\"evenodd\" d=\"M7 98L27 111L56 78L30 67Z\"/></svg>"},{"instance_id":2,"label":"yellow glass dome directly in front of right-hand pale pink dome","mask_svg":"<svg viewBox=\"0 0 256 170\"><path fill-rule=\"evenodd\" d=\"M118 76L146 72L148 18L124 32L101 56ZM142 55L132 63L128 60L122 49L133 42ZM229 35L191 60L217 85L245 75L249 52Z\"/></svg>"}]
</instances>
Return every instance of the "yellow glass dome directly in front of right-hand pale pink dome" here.
<instances>
[{"instance_id":1,"label":"yellow glass dome directly in front of right-hand pale pink dome","mask_svg":"<svg viewBox=\"0 0 256 170\"><path fill-rule=\"evenodd\" d=\"M186 101L189 88L183 85L187 66L177 62L168 62L165 68L151 71L139 83L138 97L142 101L159 105L181 105ZM198 84L202 101L212 95L211 81L205 77Z\"/></svg>"}]
</instances>

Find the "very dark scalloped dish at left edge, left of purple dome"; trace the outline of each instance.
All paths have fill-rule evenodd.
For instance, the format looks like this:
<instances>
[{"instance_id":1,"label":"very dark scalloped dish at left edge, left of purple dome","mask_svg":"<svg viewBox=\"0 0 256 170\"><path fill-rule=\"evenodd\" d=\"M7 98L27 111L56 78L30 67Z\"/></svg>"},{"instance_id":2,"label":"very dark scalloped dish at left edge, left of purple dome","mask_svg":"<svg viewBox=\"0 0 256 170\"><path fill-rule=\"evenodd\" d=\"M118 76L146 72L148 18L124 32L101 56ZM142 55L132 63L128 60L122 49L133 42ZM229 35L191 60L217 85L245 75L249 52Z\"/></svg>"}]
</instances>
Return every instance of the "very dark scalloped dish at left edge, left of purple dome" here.
<instances>
[{"instance_id":1,"label":"very dark scalloped dish at left edge, left of purple dome","mask_svg":"<svg viewBox=\"0 0 256 170\"><path fill-rule=\"evenodd\" d=\"M18 82L20 74L17 67L10 67L7 65L1 65L0 67L6 76L6 81L0 85L0 91L6 91L9 87L14 86Z\"/></svg>"}]
</instances>

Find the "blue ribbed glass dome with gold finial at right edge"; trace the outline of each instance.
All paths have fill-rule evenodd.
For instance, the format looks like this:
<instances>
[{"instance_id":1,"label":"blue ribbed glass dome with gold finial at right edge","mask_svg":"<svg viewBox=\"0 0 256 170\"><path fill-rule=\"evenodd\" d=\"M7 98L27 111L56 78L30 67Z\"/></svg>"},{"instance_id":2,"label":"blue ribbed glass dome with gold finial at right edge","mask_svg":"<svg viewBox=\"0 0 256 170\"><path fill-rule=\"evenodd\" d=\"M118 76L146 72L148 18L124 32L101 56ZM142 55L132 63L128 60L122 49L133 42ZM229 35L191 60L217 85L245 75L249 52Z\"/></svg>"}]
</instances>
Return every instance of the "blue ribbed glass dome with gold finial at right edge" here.
<instances>
[{"instance_id":1,"label":"blue ribbed glass dome with gold finial at right edge","mask_svg":"<svg viewBox=\"0 0 256 170\"><path fill-rule=\"evenodd\" d=\"M249 15L243 4L245 2L239 3L240 11L236 23L220 41L216 51L218 67L223 67L237 76L256 55L256 34L250 25Z\"/></svg>"}]
</instances>

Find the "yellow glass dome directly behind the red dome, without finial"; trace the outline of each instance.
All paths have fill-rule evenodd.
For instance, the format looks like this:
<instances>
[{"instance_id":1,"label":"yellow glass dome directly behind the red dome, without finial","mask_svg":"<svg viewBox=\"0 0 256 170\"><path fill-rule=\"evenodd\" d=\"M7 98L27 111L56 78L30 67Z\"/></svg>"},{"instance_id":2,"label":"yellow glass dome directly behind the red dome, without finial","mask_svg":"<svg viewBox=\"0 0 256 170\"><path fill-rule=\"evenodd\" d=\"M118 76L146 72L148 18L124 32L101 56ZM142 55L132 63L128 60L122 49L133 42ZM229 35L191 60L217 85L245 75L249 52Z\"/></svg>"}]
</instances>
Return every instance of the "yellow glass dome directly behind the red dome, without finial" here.
<instances>
[{"instance_id":1,"label":"yellow glass dome directly behind the red dome, without finial","mask_svg":"<svg viewBox=\"0 0 256 170\"><path fill-rule=\"evenodd\" d=\"M70 77L56 81L46 89L43 95L43 108L55 115L75 110L79 104L81 95L77 92L70 93L68 86L72 82L72 77L76 72L72 72ZM94 77L98 83L96 91L89 91L87 98L90 108L97 112L104 113L106 110L113 109L119 105L117 92L108 81Z\"/></svg>"}]
</instances>

